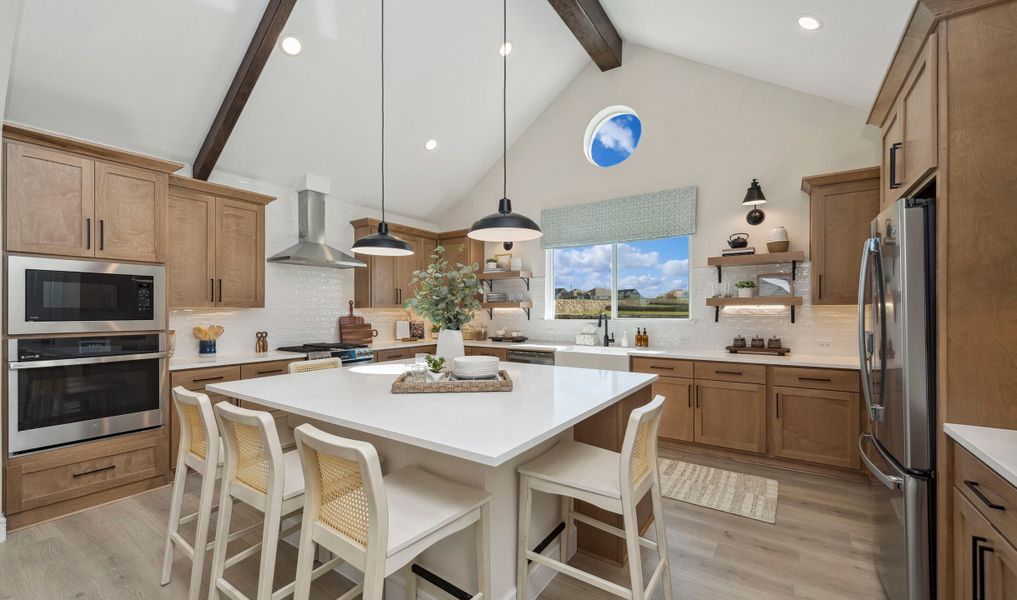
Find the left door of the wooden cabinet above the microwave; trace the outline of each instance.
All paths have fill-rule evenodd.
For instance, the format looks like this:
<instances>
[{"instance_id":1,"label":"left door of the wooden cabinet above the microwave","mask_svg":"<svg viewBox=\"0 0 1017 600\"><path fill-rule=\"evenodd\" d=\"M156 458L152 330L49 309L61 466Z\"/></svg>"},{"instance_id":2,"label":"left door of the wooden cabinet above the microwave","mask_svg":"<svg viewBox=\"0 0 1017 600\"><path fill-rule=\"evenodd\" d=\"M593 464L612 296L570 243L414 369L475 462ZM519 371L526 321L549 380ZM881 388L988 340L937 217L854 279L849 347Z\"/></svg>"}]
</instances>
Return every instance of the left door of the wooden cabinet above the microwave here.
<instances>
[{"instance_id":1,"label":"left door of the wooden cabinet above the microwave","mask_svg":"<svg viewBox=\"0 0 1017 600\"><path fill-rule=\"evenodd\" d=\"M94 256L95 161L6 142L7 250Z\"/></svg>"}]
</instances>

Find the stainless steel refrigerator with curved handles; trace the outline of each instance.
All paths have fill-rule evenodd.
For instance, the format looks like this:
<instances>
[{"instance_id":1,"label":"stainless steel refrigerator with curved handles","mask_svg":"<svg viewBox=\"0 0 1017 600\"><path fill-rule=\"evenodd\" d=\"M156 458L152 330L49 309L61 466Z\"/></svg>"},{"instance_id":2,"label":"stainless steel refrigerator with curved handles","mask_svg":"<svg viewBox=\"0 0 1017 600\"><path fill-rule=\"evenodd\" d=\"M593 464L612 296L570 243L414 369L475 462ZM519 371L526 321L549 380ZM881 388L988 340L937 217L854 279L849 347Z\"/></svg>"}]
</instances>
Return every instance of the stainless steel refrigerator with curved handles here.
<instances>
[{"instance_id":1,"label":"stainless steel refrigerator with curved handles","mask_svg":"<svg viewBox=\"0 0 1017 600\"><path fill-rule=\"evenodd\" d=\"M936 202L904 198L873 221L861 254L858 346L877 480L876 560L889 600L935 597Z\"/></svg>"}]
</instances>

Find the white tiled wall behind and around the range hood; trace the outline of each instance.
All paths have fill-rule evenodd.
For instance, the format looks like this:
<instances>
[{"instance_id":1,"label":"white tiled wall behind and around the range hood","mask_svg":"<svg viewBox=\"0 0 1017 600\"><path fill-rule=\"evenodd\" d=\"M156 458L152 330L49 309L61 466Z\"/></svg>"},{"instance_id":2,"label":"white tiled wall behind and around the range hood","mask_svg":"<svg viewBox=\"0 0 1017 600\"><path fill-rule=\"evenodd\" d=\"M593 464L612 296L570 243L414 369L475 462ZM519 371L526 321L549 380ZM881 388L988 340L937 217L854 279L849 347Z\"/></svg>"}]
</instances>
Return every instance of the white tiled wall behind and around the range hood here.
<instances>
[{"instance_id":1,"label":"white tiled wall behind and around the range hood","mask_svg":"<svg viewBox=\"0 0 1017 600\"><path fill-rule=\"evenodd\" d=\"M295 189L253 181L216 171L216 183L276 196L265 208L265 256L297 242L297 192ZM341 185L333 182L333 186ZM380 213L337 199L325 200L325 238L330 245L349 253L353 245L350 221L362 217L379 218ZM390 214L390 221L436 231L434 224ZM197 355L197 340L191 328L198 324L220 324L226 333L217 343L220 354L254 351L255 332L268 332L270 348L306 342L339 340L338 320L349 310L353 299L353 271L295 264L266 263L264 266L264 308L170 311L170 328L177 332L175 357ZM395 337L399 310L357 310L378 329L380 340Z\"/></svg>"}]
</instances>

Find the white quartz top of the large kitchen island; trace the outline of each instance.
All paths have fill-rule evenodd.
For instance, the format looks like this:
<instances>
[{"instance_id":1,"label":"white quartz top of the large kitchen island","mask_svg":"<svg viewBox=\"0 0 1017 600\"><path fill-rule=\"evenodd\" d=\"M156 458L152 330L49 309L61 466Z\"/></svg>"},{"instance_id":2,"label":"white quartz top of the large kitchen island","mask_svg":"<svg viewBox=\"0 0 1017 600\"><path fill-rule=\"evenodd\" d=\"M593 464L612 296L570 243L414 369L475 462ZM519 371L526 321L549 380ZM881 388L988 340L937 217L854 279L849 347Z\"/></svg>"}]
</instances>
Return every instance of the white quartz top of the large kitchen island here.
<instances>
[{"instance_id":1,"label":"white quartz top of the large kitchen island","mask_svg":"<svg viewBox=\"0 0 1017 600\"><path fill-rule=\"evenodd\" d=\"M496 467L654 381L646 373L502 363L512 392L393 394L404 362L215 383L238 398Z\"/></svg>"}]
</instances>

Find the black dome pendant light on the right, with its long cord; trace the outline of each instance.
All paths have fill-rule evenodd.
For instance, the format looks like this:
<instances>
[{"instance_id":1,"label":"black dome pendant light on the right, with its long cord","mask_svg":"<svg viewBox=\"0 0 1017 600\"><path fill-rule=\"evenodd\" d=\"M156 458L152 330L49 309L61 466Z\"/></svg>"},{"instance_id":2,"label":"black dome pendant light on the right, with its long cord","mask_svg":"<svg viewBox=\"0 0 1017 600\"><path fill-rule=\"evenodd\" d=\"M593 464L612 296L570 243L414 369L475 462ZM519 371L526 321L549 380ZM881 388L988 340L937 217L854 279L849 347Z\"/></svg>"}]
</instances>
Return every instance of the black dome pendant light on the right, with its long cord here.
<instances>
[{"instance_id":1,"label":"black dome pendant light on the right, with its long cord","mask_svg":"<svg viewBox=\"0 0 1017 600\"><path fill-rule=\"evenodd\" d=\"M508 8L501 0L501 43L508 43ZM501 53L501 199L498 212L473 224L467 235L484 242L525 242L544 235L540 226L529 217L512 212L508 199L508 53Z\"/></svg>"}]
</instances>

